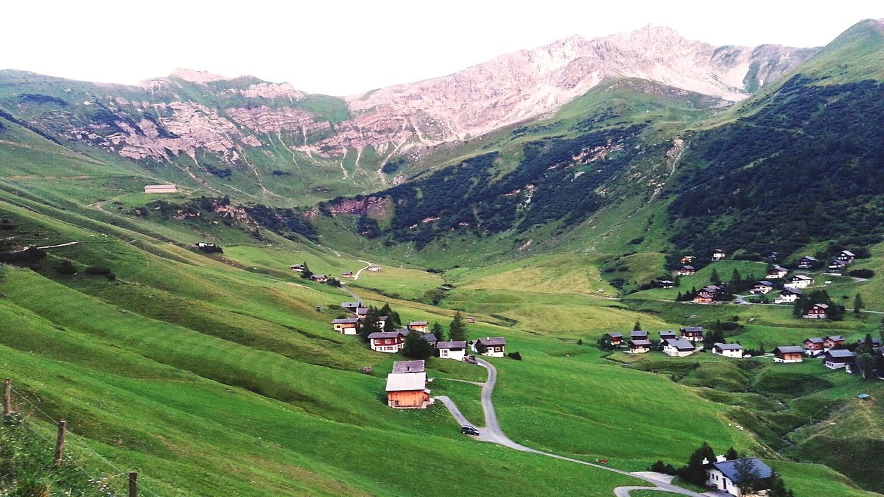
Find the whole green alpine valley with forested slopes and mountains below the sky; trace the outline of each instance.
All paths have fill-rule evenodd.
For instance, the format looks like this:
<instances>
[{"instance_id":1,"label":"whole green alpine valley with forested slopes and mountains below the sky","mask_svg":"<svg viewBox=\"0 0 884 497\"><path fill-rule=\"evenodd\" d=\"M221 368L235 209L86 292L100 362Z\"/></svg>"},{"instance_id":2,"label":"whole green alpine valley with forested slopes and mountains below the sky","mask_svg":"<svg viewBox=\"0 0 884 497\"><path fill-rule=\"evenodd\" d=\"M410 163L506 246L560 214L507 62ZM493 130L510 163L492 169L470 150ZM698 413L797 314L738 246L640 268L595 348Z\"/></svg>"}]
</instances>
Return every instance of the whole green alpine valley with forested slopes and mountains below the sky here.
<instances>
[{"instance_id":1,"label":"whole green alpine valley with forested slopes and mountains below the sky","mask_svg":"<svg viewBox=\"0 0 884 497\"><path fill-rule=\"evenodd\" d=\"M867 19L821 48L574 36L353 96L0 71L0 495L138 471L163 496L696 497L705 442L794 495L884 494L882 54ZM403 353L336 331L381 309L507 355L437 350L430 405L391 409Z\"/></svg>"}]
</instances>

